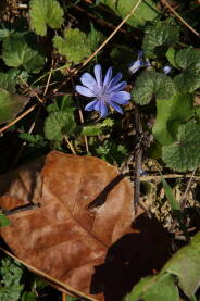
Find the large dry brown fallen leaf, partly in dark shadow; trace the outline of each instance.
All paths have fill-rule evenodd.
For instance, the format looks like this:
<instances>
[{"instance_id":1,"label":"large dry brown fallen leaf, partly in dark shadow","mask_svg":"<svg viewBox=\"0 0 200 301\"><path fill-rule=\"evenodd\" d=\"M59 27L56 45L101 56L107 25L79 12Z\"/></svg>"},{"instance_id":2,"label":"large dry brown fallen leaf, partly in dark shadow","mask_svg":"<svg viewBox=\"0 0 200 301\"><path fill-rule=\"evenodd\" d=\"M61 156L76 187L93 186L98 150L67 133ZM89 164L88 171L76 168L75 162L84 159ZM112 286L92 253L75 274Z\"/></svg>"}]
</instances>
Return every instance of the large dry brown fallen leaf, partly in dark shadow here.
<instances>
[{"instance_id":1,"label":"large dry brown fallen leaf, partly in dark shadow","mask_svg":"<svg viewBox=\"0 0 200 301\"><path fill-rule=\"evenodd\" d=\"M120 301L168 255L157 221L140 211L133 227L132 185L100 159L52 151L1 177L0 187L7 210L41 204L10 216L1 228L7 244L71 292Z\"/></svg>"}]
</instances>

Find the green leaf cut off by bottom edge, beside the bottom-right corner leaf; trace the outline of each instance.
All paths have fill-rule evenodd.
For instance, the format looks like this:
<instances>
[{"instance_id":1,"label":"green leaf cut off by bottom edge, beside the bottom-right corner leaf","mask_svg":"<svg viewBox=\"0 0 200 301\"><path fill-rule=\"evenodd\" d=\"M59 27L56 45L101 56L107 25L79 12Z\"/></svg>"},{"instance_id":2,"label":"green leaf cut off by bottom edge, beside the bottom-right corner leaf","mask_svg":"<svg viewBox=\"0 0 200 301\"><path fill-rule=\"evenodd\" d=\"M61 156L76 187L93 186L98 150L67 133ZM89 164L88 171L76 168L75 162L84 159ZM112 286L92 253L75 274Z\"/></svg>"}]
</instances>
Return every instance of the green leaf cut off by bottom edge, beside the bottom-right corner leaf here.
<instances>
[{"instance_id":1,"label":"green leaf cut off by bottom edge, beside the bottom-right corner leaf","mask_svg":"<svg viewBox=\"0 0 200 301\"><path fill-rule=\"evenodd\" d=\"M147 277L137 284L123 301L178 301L175 277L165 273L160 277Z\"/></svg>"}]
</instances>

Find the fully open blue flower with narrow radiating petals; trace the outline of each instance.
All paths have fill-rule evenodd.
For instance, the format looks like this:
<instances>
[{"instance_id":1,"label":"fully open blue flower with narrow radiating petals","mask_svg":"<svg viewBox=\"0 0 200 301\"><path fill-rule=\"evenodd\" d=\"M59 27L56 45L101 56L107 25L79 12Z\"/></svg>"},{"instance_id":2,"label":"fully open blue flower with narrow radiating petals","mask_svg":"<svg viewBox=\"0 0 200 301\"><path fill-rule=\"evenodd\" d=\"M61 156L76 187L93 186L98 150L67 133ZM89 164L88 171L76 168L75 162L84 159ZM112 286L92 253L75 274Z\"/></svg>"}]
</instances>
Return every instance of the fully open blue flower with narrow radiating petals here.
<instances>
[{"instance_id":1,"label":"fully open blue flower with narrow radiating petals","mask_svg":"<svg viewBox=\"0 0 200 301\"><path fill-rule=\"evenodd\" d=\"M126 81L120 81L122 74L117 73L112 78L112 67L110 67L102 78L101 66L95 65L95 78L89 73L84 73L80 81L84 86L76 86L76 91L83 96L95 98L86 106L86 111L97 111L101 117L107 117L109 106L112 106L118 113L123 113L118 104L127 104L130 99L130 93L122 91L127 86Z\"/></svg>"}]
</instances>

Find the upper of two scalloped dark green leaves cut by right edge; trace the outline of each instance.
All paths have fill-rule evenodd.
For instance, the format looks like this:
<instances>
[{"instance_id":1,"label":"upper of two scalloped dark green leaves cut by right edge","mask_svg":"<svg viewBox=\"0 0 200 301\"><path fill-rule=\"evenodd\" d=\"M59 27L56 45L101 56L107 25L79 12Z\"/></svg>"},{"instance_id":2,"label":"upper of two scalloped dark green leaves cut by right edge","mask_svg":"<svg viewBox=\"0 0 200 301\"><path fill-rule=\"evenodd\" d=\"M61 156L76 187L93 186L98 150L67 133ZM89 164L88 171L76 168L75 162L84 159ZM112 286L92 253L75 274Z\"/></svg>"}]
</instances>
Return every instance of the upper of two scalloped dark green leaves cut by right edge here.
<instances>
[{"instance_id":1,"label":"upper of two scalloped dark green leaves cut by right edge","mask_svg":"<svg viewBox=\"0 0 200 301\"><path fill-rule=\"evenodd\" d=\"M174 83L180 92L193 92L200 88L200 51L187 48L175 55L176 65L183 73L174 77Z\"/></svg>"}]
</instances>

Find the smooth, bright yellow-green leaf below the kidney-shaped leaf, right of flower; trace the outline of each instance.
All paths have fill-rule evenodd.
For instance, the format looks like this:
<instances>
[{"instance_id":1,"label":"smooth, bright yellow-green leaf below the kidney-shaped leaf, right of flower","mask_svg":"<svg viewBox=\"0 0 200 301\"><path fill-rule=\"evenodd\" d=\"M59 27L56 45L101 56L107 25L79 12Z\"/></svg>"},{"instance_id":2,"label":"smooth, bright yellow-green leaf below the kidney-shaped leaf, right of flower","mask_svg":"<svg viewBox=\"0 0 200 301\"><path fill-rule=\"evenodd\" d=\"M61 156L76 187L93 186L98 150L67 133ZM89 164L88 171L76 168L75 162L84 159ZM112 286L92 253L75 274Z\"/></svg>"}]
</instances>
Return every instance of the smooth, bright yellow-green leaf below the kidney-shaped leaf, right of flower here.
<instances>
[{"instance_id":1,"label":"smooth, bright yellow-green leaf below the kidney-shaped leaf, right of flower","mask_svg":"<svg viewBox=\"0 0 200 301\"><path fill-rule=\"evenodd\" d=\"M176 139L178 126L193 113L193 95L174 95L167 100L157 100L157 121L152 128L154 138L163 146Z\"/></svg>"}]
</instances>

